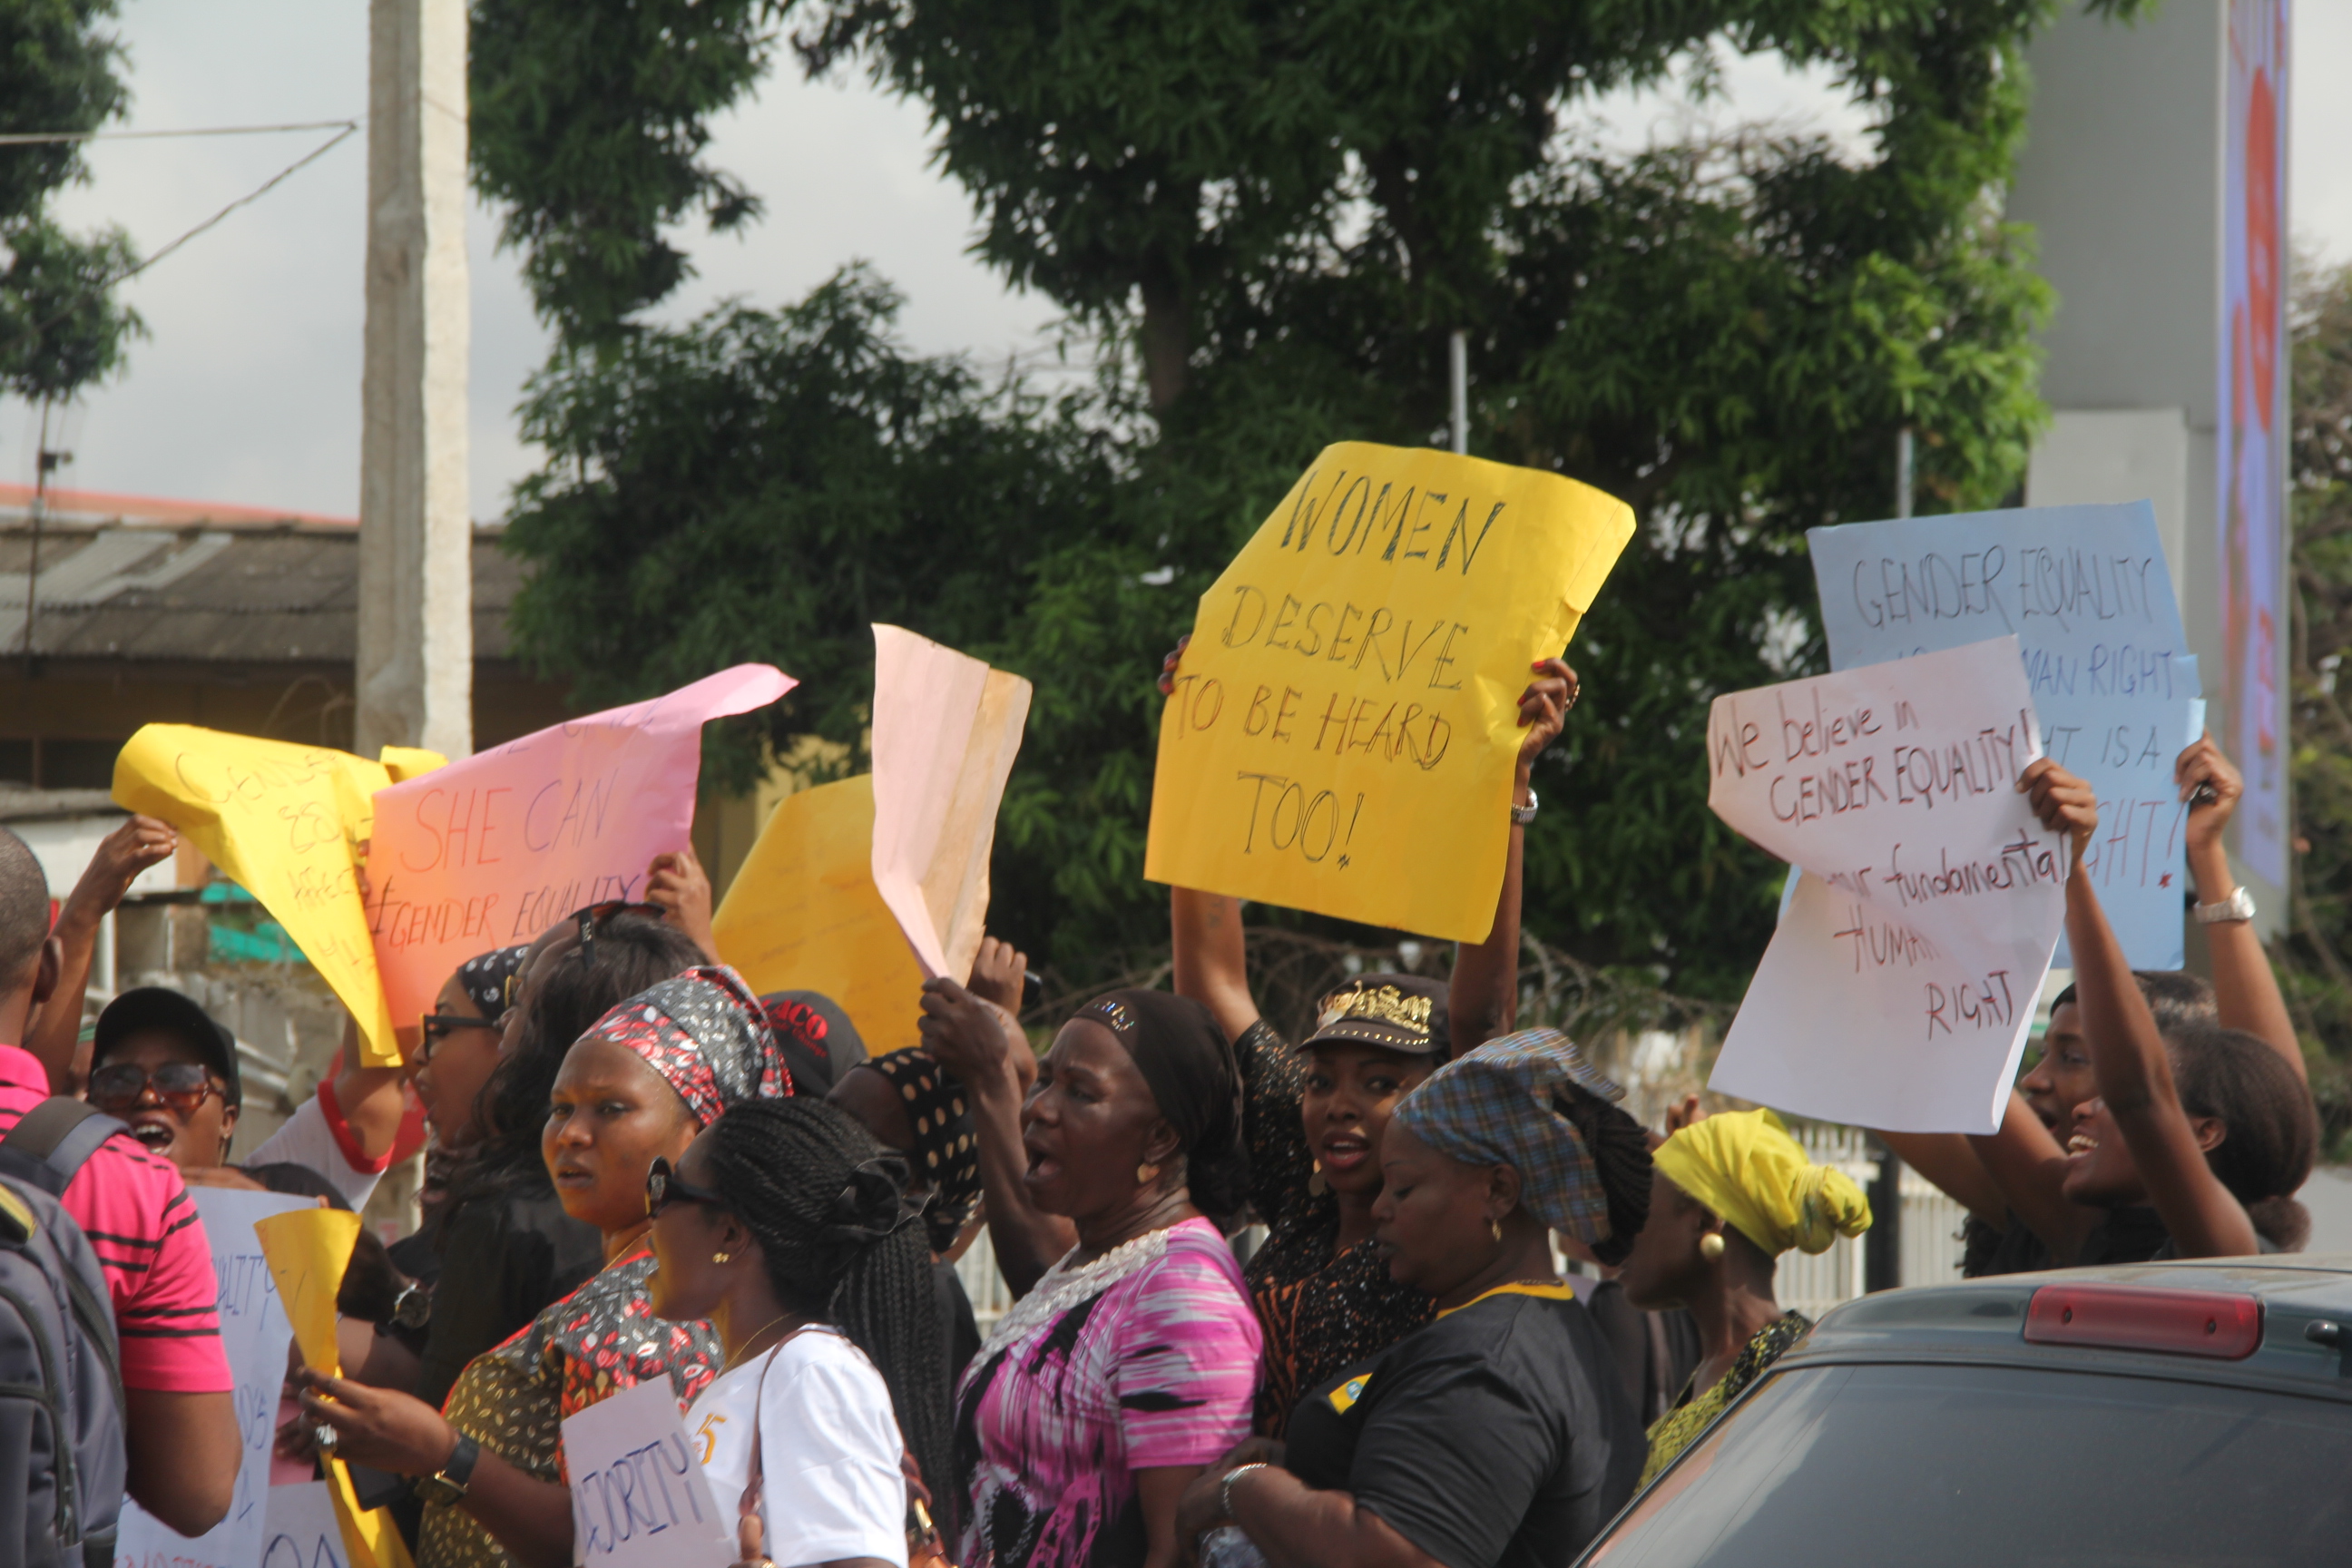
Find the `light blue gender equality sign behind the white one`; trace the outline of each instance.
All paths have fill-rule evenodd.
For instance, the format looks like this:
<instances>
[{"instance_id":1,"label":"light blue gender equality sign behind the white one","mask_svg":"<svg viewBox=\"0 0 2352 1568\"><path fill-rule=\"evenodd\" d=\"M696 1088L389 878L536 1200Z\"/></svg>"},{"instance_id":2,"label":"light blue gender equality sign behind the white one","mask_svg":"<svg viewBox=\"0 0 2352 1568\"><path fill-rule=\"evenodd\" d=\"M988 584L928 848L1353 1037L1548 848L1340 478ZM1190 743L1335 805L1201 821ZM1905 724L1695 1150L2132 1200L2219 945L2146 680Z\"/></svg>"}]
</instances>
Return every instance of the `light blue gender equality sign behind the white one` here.
<instances>
[{"instance_id":1,"label":"light blue gender equality sign behind the white one","mask_svg":"<svg viewBox=\"0 0 2352 1568\"><path fill-rule=\"evenodd\" d=\"M2084 875L2124 957L2180 969L2187 806L2173 759L2204 731L2204 703L2154 508L1851 522L1806 529L1806 543L1832 670L2016 635L2042 750L2098 792Z\"/></svg>"}]
</instances>

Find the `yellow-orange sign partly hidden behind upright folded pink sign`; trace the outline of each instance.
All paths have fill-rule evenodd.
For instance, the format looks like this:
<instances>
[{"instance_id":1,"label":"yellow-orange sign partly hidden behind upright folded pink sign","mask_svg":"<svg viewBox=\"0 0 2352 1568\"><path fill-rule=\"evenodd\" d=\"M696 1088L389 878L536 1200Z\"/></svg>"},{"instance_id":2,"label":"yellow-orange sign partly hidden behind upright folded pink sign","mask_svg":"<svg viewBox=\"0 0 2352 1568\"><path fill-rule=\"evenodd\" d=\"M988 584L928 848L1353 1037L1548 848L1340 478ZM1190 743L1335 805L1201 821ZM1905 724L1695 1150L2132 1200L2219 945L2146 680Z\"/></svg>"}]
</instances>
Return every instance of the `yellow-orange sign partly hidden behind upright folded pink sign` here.
<instances>
[{"instance_id":1,"label":"yellow-orange sign partly hidden behind upright folded pink sign","mask_svg":"<svg viewBox=\"0 0 2352 1568\"><path fill-rule=\"evenodd\" d=\"M915 1044L922 964L875 886L873 839L870 773L786 795L710 933L753 990L826 992L882 1056Z\"/></svg>"}]
</instances>

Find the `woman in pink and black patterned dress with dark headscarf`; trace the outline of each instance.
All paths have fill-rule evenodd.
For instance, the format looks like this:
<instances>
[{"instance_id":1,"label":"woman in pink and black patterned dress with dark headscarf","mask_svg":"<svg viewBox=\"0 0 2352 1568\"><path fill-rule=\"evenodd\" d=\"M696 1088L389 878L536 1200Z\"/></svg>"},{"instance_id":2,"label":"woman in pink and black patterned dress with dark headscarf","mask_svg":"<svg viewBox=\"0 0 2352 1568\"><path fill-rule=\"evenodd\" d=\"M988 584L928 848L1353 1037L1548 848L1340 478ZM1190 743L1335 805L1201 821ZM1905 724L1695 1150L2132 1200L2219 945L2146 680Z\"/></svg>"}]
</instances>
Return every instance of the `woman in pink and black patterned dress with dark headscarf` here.
<instances>
[{"instance_id":1,"label":"woman in pink and black patterned dress with dark headscarf","mask_svg":"<svg viewBox=\"0 0 2352 1568\"><path fill-rule=\"evenodd\" d=\"M1169 1568L1176 1500L1249 1434L1258 1319L1240 1074L1197 1001L1122 990L1063 1025L1021 1112L1023 1190L1077 1246L964 1373L964 1568Z\"/></svg>"}]
</instances>

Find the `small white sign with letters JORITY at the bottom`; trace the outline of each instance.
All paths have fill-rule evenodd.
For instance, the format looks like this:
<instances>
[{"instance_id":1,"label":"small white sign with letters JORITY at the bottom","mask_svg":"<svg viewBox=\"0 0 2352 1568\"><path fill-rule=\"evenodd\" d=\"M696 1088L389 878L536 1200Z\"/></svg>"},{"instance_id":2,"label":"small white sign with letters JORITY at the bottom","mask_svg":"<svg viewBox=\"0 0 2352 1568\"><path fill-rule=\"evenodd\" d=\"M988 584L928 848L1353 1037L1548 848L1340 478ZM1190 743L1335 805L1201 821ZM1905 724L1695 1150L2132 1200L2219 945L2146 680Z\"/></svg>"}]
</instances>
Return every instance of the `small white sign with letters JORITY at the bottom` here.
<instances>
[{"instance_id":1,"label":"small white sign with letters JORITY at the bottom","mask_svg":"<svg viewBox=\"0 0 2352 1568\"><path fill-rule=\"evenodd\" d=\"M668 1378L567 1415L564 1472L574 1563L722 1568L736 1559L734 1514L720 1514L710 1495Z\"/></svg>"}]
</instances>

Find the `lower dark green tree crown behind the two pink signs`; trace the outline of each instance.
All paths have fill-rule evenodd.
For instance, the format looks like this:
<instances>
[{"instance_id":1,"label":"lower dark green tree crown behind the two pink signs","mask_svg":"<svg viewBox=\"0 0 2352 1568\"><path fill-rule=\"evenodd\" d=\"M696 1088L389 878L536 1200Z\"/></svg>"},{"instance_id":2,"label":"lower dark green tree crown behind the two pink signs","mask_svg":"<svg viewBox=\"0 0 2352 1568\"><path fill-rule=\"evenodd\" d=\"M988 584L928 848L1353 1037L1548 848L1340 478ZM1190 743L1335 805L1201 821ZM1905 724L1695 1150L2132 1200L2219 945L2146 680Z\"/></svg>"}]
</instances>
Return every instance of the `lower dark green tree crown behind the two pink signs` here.
<instances>
[{"instance_id":1,"label":"lower dark green tree crown behind the two pink signs","mask_svg":"<svg viewBox=\"0 0 2352 1568\"><path fill-rule=\"evenodd\" d=\"M722 306L569 350L522 430L548 449L508 541L539 562L524 644L623 703L746 658L800 677L736 738L856 743L873 621L1000 651L1028 597L1014 536L1082 536L1108 470L1018 386L891 339L898 296L849 268L786 310ZM720 762L739 783L757 748Z\"/></svg>"}]
</instances>

